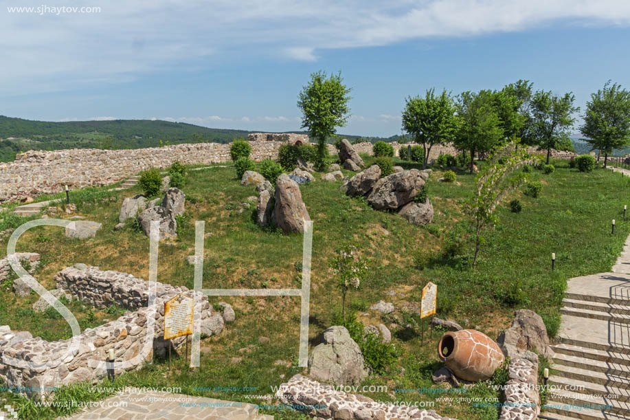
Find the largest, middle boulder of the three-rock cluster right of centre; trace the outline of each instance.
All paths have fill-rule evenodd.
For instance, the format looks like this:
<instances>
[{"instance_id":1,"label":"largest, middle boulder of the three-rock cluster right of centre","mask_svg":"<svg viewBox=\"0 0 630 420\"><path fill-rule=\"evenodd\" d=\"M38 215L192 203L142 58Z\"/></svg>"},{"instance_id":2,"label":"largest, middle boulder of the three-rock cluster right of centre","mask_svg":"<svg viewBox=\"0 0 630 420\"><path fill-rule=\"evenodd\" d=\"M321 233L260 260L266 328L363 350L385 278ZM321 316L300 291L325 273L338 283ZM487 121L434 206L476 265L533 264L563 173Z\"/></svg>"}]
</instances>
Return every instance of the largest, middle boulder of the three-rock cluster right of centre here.
<instances>
[{"instance_id":1,"label":"largest, middle boulder of the three-rock cluster right of centre","mask_svg":"<svg viewBox=\"0 0 630 420\"><path fill-rule=\"evenodd\" d=\"M376 181L368 203L376 210L395 210L412 201L425 186L417 169L393 173Z\"/></svg>"}]
</instances>

